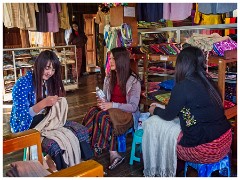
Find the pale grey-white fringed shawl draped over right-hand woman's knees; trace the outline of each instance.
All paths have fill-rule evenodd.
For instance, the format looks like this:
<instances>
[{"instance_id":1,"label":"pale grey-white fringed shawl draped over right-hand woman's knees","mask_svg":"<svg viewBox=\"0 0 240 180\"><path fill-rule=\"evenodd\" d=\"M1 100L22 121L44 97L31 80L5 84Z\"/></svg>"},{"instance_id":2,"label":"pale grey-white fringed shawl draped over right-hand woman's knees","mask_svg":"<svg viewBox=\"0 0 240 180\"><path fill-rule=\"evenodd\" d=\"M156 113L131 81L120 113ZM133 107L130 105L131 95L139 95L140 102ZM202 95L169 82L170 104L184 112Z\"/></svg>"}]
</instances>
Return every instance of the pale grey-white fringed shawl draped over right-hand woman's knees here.
<instances>
[{"instance_id":1,"label":"pale grey-white fringed shawl draped over right-hand woman's knees","mask_svg":"<svg viewBox=\"0 0 240 180\"><path fill-rule=\"evenodd\" d=\"M174 177L177 169L179 118L165 121L154 115L143 122L142 152L145 177Z\"/></svg>"}]
</instances>

